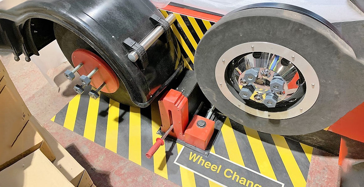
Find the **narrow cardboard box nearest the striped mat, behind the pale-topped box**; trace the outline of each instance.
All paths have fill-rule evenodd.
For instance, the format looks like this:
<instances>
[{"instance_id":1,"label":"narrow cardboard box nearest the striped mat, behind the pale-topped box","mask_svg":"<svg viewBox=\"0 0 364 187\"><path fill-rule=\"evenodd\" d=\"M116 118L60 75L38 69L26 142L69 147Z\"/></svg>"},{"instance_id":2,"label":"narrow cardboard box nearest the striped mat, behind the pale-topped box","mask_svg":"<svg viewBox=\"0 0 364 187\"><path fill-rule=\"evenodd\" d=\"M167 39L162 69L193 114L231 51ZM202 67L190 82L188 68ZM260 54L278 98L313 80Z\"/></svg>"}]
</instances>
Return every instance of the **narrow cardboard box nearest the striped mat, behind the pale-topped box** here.
<instances>
[{"instance_id":1,"label":"narrow cardboard box nearest the striped mat, behind the pale-topped box","mask_svg":"<svg viewBox=\"0 0 364 187\"><path fill-rule=\"evenodd\" d=\"M76 187L90 187L93 182L90 179L87 171L62 147L61 144L45 129L34 116L29 118L30 124L32 124L43 139L50 146L51 151L54 153L56 159L53 164L56 168L66 176ZM88 186L89 185L89 186Z\"/></svg>"}]
</instances>

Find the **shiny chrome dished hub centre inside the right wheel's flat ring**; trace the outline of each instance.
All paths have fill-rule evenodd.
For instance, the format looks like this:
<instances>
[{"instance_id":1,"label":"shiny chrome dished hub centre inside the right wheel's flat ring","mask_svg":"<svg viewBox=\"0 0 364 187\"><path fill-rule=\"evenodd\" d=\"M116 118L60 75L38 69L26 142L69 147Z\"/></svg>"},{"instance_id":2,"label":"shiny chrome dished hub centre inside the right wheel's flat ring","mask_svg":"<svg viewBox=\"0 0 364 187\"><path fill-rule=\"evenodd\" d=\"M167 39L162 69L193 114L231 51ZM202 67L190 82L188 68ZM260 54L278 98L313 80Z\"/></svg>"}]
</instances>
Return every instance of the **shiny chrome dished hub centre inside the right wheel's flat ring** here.
<instances>
[{"instance_id":1,"label":"shiny chrome dished hub centre inside the right wheel's flat ring","mask_svg":"<svg viewBox=\"0 0 364 187\"><path fill-rule=\"evenodd\" d=\"M252 83L255 89L249 99L258 103L262 103L266 94L270 93L278 96L277 102L289 100L300 86L297 85L297 80L300 76L298 75L296 67L294 67L290 61L276 54L252 52L233 59L232 65L235 67L232 79L235 79L238 83L238 86L235 87L236 90L240 91L243 86ZM253 71L255 70L258 72L255 74L256 77L249 73L252 69ZM248 76L245 76L246 72L249 73ZM271 86L271 81L274 76L280 76L283 79L283 90L279 90L278 85ZM262 97L262 99L260 99L260 97ZM272 101L268 103L269 106L267 107L271 107L271 102Z\"/></svg>"}]
</instances>

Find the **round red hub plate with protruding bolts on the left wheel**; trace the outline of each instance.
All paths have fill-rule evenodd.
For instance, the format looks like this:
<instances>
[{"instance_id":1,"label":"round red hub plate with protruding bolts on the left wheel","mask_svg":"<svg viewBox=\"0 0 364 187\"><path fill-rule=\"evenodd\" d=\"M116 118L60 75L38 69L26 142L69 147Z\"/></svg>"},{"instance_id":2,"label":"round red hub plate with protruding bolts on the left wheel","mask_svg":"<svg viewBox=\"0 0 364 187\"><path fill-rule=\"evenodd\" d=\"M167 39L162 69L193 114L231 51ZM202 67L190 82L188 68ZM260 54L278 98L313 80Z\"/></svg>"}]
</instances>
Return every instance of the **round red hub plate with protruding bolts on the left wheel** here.
<instances>
[{"instance_id":1,"label":"round red hub plate with protruding bolts on the left wheel","mask_svg":"<svg viewBox=\"0 0 364 187\"><path fill-rule=\"evenodd\" d=\"M80 75L88 75L97 67L99 70L91 77L91 85L98 88L103 82L106 86L101 89L105 93L114 93L119 88L119 80L114 70L98 55L85 49L77 49L72 53L72 63L76 67L80 63L83 66L78 70Z\"/></svg>"}]
</instances>

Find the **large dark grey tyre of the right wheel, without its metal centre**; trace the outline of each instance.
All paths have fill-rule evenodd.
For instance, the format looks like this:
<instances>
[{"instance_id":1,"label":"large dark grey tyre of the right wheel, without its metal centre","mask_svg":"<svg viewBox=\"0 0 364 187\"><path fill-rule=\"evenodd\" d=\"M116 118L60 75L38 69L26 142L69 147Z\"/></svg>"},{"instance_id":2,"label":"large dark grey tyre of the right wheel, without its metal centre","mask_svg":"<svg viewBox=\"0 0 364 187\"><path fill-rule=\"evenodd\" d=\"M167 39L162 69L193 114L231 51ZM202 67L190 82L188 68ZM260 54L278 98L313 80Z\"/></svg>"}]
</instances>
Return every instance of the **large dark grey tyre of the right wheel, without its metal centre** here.
<instances>
[{"instance_id":1,"label":"large dark grey tyre of the right wheel, without its metal centre","mask_svg":"<svg viewBox=\"0 0 364 187\"><path fill-rule=\"evenodd\" d=\"M284 46L310 63L318 76L320 93L308 111L293 118L272 120L248 114L226 99L215 80L216 64L225 51L248 42ZM334 29L300 12L300 8L295 11L258 6L223 16L199 42L194 66L199 86L218 110L240 124L266 133L316 132L364 101L364 94L358 94L363 93L364 82L354 81L362 77L363 62Z\"/></svg>"}]
</instances>

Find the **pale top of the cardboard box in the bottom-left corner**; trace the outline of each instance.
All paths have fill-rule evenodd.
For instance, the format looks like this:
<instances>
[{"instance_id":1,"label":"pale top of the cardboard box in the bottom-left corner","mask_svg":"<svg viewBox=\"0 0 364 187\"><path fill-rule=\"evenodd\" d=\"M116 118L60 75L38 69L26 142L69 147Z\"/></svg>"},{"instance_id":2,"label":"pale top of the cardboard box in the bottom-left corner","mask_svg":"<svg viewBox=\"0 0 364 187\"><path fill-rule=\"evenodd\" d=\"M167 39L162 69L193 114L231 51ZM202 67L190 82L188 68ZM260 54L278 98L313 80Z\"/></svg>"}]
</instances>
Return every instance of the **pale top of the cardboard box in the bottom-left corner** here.
<instances>
[{"instance_id":1,"label":"pale top of the cardboard box in the bottom-left corner","mask_svg":"<svg viewBox=\"0 0 364 187\"><path fill-rule=\"evenodd\" d=\"M74 187L37 149L0 172L1 187Z\"/></svg>"}]
</instances>

